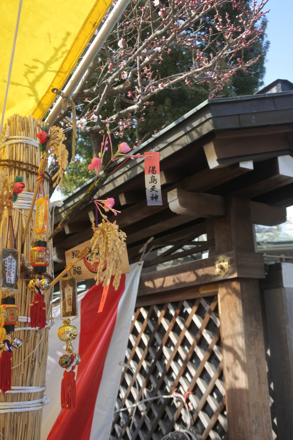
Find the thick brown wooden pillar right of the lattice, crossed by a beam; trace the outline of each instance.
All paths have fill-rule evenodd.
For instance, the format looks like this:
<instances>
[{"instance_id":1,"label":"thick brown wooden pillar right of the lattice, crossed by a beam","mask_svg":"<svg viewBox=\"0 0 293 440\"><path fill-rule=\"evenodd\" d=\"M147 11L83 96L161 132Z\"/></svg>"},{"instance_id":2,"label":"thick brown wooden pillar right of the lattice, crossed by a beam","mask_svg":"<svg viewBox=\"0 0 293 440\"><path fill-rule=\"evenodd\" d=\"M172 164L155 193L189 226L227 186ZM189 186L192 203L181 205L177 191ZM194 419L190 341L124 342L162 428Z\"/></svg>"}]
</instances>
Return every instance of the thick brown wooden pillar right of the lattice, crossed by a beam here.
<instances>
[{"instance_id":1,"label":"thick brown wooden pillar right of the lattice, crossed by a beam","mask_svg":"<svg viewBox=\"0 0 293 440\"><path fill-rule=\"evenodd\" d=\"M250 200L230 197L227 216L214 220L217 255L254 252ZM271 440L271 412L265 364L258 280L219 283L228 433L231 440Z\"/></svg>"}]
</instances>

